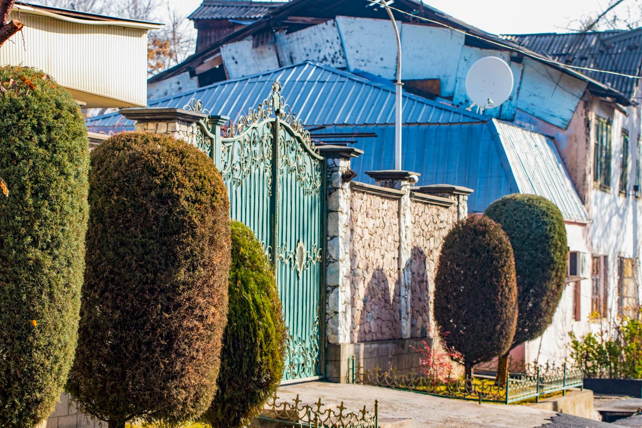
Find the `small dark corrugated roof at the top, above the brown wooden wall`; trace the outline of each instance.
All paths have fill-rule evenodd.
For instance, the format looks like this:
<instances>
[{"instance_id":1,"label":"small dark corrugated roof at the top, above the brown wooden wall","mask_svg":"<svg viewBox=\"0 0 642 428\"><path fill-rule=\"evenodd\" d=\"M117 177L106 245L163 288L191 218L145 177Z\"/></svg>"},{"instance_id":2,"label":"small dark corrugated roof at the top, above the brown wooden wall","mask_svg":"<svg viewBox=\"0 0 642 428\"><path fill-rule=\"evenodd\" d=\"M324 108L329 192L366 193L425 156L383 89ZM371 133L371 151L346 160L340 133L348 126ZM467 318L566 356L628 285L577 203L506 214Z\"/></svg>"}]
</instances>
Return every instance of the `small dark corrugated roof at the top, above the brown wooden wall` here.
<instances>
[{"instance_id":1,"label":"small dark corrugated roof at the top, above the brown wooden wall","mask_svg":"<svg viewBox=\"0 0 642 428\"><path fill-rule=\"evenodd\" d=\"M269 1L205 0L187 19L259 19L281 4Z\"/></svg>"}]
</instances>

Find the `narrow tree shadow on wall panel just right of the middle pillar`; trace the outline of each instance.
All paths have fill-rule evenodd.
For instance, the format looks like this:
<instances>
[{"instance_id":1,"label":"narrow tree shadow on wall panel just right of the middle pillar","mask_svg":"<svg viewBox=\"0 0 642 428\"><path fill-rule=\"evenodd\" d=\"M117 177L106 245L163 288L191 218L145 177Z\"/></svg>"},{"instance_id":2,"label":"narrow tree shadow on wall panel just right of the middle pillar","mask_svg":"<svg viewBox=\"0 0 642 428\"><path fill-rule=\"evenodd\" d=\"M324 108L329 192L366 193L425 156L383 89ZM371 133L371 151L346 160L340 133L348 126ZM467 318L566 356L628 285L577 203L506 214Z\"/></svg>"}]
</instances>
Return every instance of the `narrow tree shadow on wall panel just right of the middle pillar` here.
<instances>
[{"instance_id":1,"label":"narrow tree shadow on wall panel just right of the middle pillar","mask_svg":"<svg viewBox=\"0 0 642 428\"><path fill-rule=\"evenodd\" d=\"M414 247L406 270L410 269L410 337L428 337L430 332L430 283L426 253Z\"/></svg>"}]
</instances>

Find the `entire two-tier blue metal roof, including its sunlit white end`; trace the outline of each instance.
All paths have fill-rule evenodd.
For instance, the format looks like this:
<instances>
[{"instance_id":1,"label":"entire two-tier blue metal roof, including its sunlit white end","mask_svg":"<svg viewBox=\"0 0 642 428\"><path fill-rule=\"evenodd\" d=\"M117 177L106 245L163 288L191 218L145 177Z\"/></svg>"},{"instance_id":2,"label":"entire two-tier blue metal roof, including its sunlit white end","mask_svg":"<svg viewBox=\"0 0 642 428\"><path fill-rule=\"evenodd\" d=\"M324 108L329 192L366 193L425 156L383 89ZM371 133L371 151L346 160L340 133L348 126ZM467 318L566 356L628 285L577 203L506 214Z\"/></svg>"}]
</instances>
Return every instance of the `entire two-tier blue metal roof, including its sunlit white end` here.
<instances>
[{"instance_id":1,"label":"entire two-tier blue metal roof, including its sunlit white end","mask_svg":"<svg viewBox=\"0 0 642 428\"><path fill-rule=\"evenodd\" d=\"M150 107L181 108L196 98L212 114L236 119L263 101L275 80L306 126L325 125L324 134L377 135L358 139L365 153L352 160L352 168L361 181L372 183L367 171L394 168L394 87L332 67L284 67L163 98ZM403 167L421 174L419 184L472 188L471 212L521 192L550 199L568 220L588 220L557 150L541 134L407 93L403 120ZM133 129L133 122L119 114L91 118L87 125L94 132Z\"/></svg>"}]
</instances>

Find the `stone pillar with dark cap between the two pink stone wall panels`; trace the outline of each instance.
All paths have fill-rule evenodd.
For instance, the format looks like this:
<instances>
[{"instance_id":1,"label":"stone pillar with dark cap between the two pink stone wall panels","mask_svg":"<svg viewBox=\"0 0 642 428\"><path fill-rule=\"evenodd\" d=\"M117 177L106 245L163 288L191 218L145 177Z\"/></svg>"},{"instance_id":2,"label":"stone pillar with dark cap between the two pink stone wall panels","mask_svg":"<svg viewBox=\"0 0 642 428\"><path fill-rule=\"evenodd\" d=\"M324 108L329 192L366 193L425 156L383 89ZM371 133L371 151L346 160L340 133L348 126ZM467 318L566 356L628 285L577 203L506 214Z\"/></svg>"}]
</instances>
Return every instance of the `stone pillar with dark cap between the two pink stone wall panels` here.
<instances>
[{"instance_id":1,"label":"stone pillar with dark cap between the two pink stone wall panels","mask_svg":"<svg viewBox=\"0 0 642 428\"><path fill-rule=\"evenodd\" d=\"M401 337L409 339L412 334L412 317L410 283L410 256L412 254L412 213L410 210L410 188L417 183L419 175L416 172L403 170L369 171L377 185L401 190L404 195L399 201L399 305Z\"/></svg>"}]
</instances>

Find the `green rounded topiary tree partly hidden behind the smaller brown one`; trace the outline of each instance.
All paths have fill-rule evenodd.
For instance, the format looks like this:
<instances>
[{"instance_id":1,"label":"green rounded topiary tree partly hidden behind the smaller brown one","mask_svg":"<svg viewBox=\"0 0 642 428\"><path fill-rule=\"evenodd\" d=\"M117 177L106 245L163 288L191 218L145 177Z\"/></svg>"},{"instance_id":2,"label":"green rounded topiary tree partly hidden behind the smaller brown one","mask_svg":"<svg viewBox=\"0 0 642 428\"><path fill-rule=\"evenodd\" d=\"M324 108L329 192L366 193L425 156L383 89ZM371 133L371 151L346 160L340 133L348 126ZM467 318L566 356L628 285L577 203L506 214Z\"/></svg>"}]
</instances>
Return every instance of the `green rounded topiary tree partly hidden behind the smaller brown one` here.
<instances>
[{"instance_id":1,"label":"green rounded topiary tree partly hidden behind the smaller brown one","mask_svg":"<svg viewBox=\"0 0 642 428\"><path fill-rule=\"evenodd\" d=\"M516 193L493 202L486 215L510 239L517 278L517 328L510 344L539 337L553 320L564 291L568 244L564 217L548 199ZM498 384L507 376L508 352L498 364Z\"/></svg>"}]
</instances>

